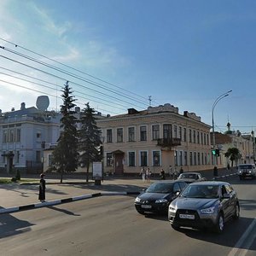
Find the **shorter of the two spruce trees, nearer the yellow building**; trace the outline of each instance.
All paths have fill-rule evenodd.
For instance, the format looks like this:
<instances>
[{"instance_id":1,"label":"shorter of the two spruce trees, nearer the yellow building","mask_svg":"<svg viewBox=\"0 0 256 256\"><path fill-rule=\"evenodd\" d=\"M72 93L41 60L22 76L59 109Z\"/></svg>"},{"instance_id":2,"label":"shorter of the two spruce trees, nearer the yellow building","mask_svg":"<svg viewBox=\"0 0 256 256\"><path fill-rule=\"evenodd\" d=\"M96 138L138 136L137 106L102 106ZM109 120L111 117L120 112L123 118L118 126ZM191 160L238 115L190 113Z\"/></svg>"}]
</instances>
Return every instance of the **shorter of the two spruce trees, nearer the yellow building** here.
<instances>
[{"instance_id":1,"label":"shorter of the two spruce trees, nearer the yellow building","mask_svg":"<svg viewBox=\"0 0 256 256\"><path fill-rule=\"evenodd\" d=\"M85 104L80 116L81 129L79 132L79 162L86 167L86 182L89 180L89 168L93 161L102 160L100 152L101 131L96 125L95 110Z\"/></svg>"}]
</instances>

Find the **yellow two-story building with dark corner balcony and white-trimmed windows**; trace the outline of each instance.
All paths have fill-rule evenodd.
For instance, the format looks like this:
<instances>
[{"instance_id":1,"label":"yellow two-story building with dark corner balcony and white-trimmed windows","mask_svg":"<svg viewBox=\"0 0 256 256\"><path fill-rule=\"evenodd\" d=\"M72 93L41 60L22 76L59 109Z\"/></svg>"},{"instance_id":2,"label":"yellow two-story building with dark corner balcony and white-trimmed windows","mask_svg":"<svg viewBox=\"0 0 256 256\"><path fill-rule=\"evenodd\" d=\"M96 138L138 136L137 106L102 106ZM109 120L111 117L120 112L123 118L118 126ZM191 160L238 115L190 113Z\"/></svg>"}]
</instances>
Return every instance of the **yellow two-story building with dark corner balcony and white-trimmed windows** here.
<instances>
[{"instance_id":1,"label":"yellow two-story building with dark corner balcony and white-trimmed windows","mask_svg":"<svg viewBox=\"0 0 256 256\"><path fill-rule=\"evenodd\" d=\"M128 113L97 119L102 130L104 172L135 174L149 167L154 174L170 166L177 172L212 169L211 126L195 113L171 104L134 108Z\"/></svg>"}]
</instances>

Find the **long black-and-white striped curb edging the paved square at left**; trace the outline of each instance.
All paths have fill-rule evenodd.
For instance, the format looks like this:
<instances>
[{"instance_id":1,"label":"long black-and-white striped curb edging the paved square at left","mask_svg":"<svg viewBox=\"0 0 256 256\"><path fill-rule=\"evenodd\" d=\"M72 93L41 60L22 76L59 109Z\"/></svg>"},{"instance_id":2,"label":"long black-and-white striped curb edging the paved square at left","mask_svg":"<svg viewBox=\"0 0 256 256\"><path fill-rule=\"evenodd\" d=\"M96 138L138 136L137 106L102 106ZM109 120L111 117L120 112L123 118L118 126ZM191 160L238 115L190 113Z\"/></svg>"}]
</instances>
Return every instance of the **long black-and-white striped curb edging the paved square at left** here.
<instances>
[{"instance_id":1,"label":"long black-and-white striped curb edging the paved square at left","mask_svg":"<svg viewBox=\"0 0 256 256\"><path fill-rule=\"evenodd\" d=\"M24 206L20 206L20 207L3 208L3 209L0 209L0 214L21 212L21 211L26 211L26 210L32 210L35 208L55 206L55 205L60 205L60 204L64 204L67 202L80 201L80 200L89 199L89 198L93 198L93 197L99 197L99 196L103 196L103 195L139 195L140 193L141 192L138 192L138 191L130 191L130 192L102 192L102 193L95 193L95 194L78 195L78 196L69 197L69 198L65 198L65 199L54 200L54 201L44 201L44 202L24 205Z\"/></svg>"}]
</instances>

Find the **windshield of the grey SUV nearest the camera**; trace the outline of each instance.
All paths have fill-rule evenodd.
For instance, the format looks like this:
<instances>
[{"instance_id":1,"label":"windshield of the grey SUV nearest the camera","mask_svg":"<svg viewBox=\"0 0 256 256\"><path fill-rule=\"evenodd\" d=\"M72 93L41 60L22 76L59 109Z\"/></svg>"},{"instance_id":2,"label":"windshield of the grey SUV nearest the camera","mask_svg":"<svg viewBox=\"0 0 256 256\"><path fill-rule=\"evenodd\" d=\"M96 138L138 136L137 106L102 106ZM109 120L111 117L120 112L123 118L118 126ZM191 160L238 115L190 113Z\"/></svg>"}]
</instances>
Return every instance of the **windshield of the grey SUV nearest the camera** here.
<instances>
[{"instance_id":1,"label":"windshield of the grey SUV nearest the camera","mask_svg":"<svg viewBox=\"0 0 256 256\"><path fill-rule=\"evenodd\" d=\"M189 198L218 198L218 185L189 185L181 194Z\"/></svg>"}]
</instances>

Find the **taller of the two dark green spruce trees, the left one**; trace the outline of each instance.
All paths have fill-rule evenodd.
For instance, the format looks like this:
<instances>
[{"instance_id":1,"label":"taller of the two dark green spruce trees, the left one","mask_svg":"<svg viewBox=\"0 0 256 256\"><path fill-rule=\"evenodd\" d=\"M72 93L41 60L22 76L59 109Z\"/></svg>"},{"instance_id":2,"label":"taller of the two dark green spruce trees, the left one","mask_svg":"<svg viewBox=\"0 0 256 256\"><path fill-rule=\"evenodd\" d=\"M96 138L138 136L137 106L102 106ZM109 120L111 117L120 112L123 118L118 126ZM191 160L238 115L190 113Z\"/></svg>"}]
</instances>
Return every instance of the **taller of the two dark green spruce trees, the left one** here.
<instances>
[{"instance_id":1,"label":"taller of the two dark green spruce trees, the left one","mask_svg":"<svg viewBox=\"0 0 256 256\"><path fill-rule=\"evenodd\" d=\"M61 183L63 174L75 172L78 168L78 131L77 119L74 116L75 111L73 90L69 87L68 82L64 85L63 105L61 105L61 134L57 140L57 146L53 151L53 163L57 172L61 173Z\"/></svg>"}]
</instances>

